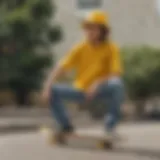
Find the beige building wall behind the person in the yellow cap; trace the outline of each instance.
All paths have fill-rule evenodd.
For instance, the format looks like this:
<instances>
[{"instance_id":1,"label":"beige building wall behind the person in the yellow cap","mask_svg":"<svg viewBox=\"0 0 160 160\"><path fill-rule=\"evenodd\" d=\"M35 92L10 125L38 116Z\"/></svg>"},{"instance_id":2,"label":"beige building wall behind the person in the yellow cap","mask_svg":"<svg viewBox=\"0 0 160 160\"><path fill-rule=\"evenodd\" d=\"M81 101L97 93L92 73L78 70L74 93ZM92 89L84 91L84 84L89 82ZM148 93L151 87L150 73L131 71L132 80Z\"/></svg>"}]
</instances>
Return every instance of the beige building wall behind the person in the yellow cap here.
<instances>
[{"instance_id":1,"label":"beige building wall behind the person in the yellow cap","mask_svg":"<svg viewBox=\"0 0 160 160\"><path fill-rule=\"evenodd\" d=\"M55 0L56 21L63 27L64 37L56 46L59 59L83 34L76 16L75 0ZM104 0L103 10L109 14L113 39L123 45L160 45L160 17L156 0Z\"/></svg>"}]
</instances>

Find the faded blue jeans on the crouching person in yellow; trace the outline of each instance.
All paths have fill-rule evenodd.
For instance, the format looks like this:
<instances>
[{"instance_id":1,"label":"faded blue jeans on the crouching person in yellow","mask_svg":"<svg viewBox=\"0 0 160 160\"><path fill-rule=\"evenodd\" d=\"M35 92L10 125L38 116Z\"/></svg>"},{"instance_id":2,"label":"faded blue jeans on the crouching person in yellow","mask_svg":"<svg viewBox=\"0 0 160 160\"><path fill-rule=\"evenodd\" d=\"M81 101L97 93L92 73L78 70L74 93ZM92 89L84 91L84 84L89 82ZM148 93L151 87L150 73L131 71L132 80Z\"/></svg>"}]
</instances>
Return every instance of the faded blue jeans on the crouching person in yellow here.
<instances>
[{"instance_id":1,"label":"faded blue jeans on the crouching person in yellow","mask_svg":"<svg viewBox=\"0 0 160 160\"><path fill-rule=\"evenodd\" d=\"M72 88L68 85L55 85L51 91L51 111L60 127L71 125L69 114L63 104L63 100L75 101L77 103L85 101L84 92ZM105 99L107 101L107 111L104 122L105 129L112 131L120 120L120 107L123 103L124 86L120 78L112 78L101 84L97 89L94 99Z\"/></svg>"}]
</instances>

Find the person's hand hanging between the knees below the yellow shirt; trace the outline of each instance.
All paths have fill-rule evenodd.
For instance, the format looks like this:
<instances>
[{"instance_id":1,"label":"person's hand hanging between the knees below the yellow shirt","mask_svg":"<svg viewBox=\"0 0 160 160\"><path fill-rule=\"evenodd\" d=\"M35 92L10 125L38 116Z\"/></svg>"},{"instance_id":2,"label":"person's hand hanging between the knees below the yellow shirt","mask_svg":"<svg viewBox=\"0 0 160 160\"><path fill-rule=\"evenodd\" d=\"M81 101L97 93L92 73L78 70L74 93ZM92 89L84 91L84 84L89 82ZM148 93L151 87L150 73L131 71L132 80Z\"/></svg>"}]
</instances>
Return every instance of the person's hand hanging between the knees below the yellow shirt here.
<instances>
[{"instance_id":1,"label":"person's hand hanging between the knees below the yellow shirt","mask_svg":"<svg viewBox=\"0 0 160 160\"><path fill-rule=\"evenodd\" d=\"M92 84L89 89L86 91L86 99L87 100L92 100L97 92L97 88L99 86L98 82L95 82Z\"/></svg>"}]
</instances>

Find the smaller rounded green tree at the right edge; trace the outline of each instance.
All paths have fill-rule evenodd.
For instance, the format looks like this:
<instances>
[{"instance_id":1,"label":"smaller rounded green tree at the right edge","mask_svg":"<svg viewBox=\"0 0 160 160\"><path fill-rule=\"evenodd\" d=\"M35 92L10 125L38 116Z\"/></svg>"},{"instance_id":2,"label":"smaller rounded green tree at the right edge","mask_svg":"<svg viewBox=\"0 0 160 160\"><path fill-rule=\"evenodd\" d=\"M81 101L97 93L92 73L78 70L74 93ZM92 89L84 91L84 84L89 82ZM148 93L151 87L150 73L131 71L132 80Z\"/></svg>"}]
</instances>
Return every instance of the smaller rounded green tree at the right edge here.
<instances>
[{"instance_id":1,"label":"smaller rounded green tree at the right edge","mask_svg":"<svg viewBox=\"0 0 160 160\"><path fill-rule=\"evenodd\" d=\"M160 94L160 49L142 46L122 49L125 84L137 116L142 116L146 100Z\"/></svg>"}]
</instances>

